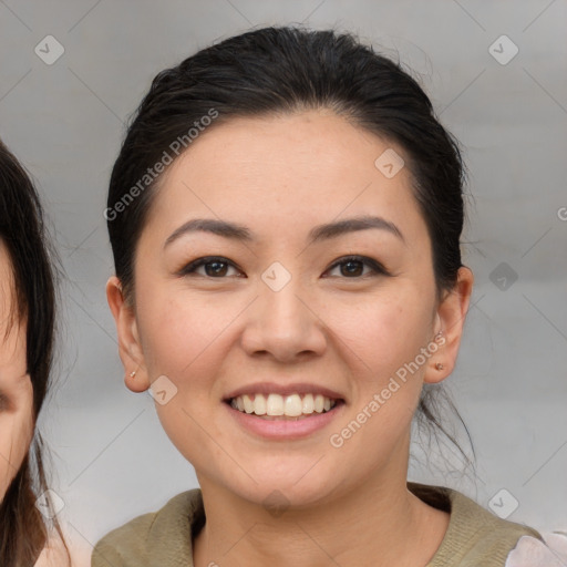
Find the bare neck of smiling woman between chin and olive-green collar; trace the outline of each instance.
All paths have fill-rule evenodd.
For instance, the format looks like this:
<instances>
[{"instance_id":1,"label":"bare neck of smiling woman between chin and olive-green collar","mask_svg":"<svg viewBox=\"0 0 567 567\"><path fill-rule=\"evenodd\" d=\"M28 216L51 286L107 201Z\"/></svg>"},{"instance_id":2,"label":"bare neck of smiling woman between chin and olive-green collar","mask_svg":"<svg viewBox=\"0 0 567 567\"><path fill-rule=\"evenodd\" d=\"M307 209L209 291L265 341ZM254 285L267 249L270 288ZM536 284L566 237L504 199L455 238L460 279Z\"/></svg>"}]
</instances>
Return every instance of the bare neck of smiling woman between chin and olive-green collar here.
<instances>
[{"instance_id":1,"label":"bare neck of smiling woman between chin and olive-green collar","mask_svg":"<svg viewBox=\"0 0 567 567\"><path fill-rule=\"evenodd\" d=\"M405 475L375 474L355 488L275 513L200 480L206 524L194 540L195 567L425 565L449 525L406 487Z\"/></svg>"}]
</instances>

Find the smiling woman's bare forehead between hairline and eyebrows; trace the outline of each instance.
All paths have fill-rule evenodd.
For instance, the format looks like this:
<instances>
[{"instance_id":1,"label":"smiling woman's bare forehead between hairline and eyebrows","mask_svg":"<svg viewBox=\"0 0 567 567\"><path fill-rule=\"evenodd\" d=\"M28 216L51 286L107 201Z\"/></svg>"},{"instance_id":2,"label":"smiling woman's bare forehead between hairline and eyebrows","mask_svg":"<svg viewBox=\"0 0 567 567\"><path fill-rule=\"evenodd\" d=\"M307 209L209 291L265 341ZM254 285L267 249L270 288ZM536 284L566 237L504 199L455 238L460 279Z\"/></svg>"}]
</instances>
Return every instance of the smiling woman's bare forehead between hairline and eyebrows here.
<instances>
[{"instance_id":1,"label":"smiling woman's bare forehead between hairline and eyebrows","mask_svg":"<svg viewBox=\"0 0 567 567\"><path fill-rule=\"evenodd\" d=\"M375 162L398 145L331 111L240 117L195 140L159 181L148 223L187 215L264 224L266 230L374 212L423 237L408 167L386 177Z\"/></svg>"}]
</instances>

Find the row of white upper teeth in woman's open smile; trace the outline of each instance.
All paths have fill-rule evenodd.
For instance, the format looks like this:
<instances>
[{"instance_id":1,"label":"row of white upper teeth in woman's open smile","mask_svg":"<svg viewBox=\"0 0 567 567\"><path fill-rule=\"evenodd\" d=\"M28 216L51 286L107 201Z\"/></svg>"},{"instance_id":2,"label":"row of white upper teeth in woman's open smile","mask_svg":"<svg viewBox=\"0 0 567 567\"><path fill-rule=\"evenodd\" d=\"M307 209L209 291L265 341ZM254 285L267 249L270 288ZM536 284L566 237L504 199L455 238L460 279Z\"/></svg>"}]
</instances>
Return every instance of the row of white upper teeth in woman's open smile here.
<instances>
[{"instance_id":1,"label":"row of white upper teeth in woman's open smile","mask_svg":"<svg viewBox=\"0 0 567 567\"><path fill-rule=\"evenodd\" d=\"M256 415L285 415L288 417L298 417L300 415L310 415L313 412L328 412L336 405L336 401L321 394L291 394L279 395L269 394L267 398L262 394L238 395L230 401L230 405L244 413L255 413Z\"/></svg>"}]
</instances>

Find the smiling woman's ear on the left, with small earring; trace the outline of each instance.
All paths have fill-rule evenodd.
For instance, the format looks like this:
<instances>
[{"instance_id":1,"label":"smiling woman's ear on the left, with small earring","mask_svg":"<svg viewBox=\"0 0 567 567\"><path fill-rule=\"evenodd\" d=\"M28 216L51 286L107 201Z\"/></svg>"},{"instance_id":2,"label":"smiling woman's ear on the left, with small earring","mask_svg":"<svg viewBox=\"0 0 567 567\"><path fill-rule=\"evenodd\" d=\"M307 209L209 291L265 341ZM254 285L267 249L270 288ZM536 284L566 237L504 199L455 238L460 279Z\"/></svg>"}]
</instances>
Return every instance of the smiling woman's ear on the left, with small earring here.
<instances>
[{"instance_id":1,"label":"smiling woman's ear on the left, with small earring","mask_svg":"<svg viewBox=\"0 0 567 567\"><path fill-rule=\"evenodd\" d=\"M150 379L136 317L133 306L125 301L121 281L116 276L112 276L106 282L106 300L116 323L118 353L125 371L124 383L133 392L145 392L150 388ZM134 377L131 375L132 372L135 372Z\"/></svg>"}]
</instances>

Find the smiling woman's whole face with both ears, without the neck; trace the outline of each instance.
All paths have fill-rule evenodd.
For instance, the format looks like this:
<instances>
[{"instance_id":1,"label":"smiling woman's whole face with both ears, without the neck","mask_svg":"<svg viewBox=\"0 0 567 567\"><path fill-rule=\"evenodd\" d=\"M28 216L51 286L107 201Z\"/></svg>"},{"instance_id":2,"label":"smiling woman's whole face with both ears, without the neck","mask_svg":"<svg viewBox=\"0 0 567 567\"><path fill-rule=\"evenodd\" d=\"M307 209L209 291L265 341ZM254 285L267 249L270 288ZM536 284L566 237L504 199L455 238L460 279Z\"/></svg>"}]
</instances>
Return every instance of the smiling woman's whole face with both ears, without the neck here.
<instances>
[{"instance_id":1,"label":"smiling woman's whole face with both ears, without the neck","mask_svg":"<svg viewBox=\"0 0 567 567\"><path fill-rule=\"evenodd\" d=\"M422 383L451 372L466 301L435 301L426 226L392 150L403 156L331 112L238 118L162 179L135 258L135 313L115 279L109 300L126 372L137 371L126 383L154 383L202 486L301 505L405 482ZM229 403L249 394L251 411L259 393L281 394L267 400L276 413L309 412L307 394L337 403L299 420L256 415L261 400L250 414Z\"/></svg>"}]
</instances>

